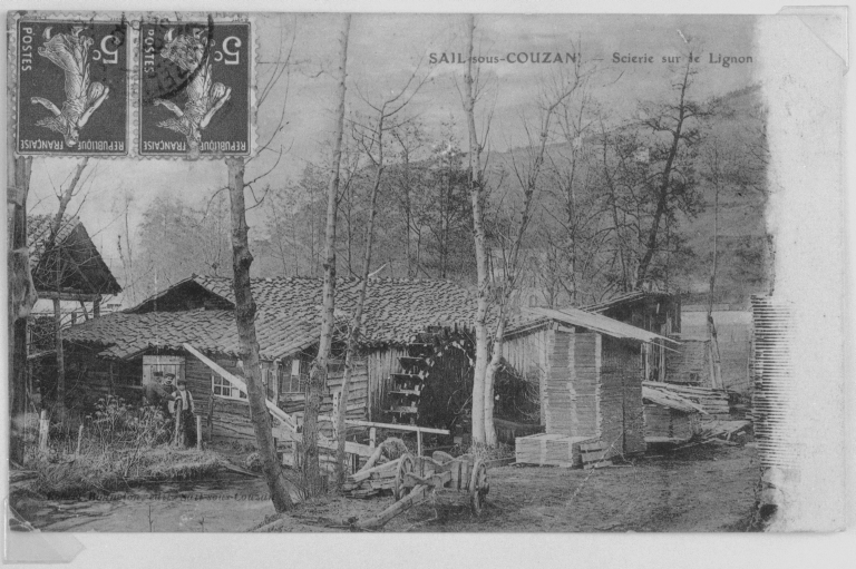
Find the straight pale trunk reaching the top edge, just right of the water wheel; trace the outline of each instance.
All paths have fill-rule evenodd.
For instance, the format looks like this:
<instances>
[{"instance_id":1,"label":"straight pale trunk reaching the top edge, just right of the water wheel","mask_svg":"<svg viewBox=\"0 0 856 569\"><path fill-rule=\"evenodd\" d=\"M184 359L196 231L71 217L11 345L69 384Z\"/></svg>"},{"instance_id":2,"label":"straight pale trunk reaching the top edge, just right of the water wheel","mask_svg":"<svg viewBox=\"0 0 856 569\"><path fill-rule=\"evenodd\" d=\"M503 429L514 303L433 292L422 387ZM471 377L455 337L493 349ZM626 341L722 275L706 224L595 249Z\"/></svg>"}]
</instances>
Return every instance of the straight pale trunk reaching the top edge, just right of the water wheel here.
<instances>
[{"instance_id":1,"label":"straight pale trunk reaching the top edge, just right of the water wheel","mask_svg":"<svg viewBox=\"0 0 856 569\"><path fill-rule=\"evenodd\" d=\"M476 247L476 273L478 275L478 300L476 306L476 365L473 379L473 442L485 442L485 372L487 371L487 305L489 281L487 253L485 251L484 213L481 210L484 187L481 179L481 147L476 133L476 92L473 78L473 42L475 17L467 17L467 71L464 77L464 111L467 115L469 133L469 197L473 202L473 235Z\"/></svg>"}]
</instances>

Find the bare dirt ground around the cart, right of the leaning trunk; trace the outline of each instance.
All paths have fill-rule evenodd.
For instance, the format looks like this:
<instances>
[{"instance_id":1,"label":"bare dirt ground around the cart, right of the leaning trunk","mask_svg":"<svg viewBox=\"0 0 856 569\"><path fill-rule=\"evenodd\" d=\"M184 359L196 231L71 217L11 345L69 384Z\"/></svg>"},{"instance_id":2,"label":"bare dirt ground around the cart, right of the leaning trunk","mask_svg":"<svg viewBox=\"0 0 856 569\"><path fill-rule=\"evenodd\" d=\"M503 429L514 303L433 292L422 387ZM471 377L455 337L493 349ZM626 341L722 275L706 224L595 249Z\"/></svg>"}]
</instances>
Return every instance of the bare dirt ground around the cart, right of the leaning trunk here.
<instances>
[{"instance_id":1,"label":"bare dirt ground around the cart, right of the leaning trunk","mask_svg":"<svg viewBox=\"0 0 856 569\"><path fill-rule=\"evenodd\" d=\"M651 453L650 453L651 454ZM756 449L706 444L632 465L600 470L504 467L489 473L481 517L467 494L436 496L391 520L385 531L746 531L759 479ZM307 506L274 531L302 531L378 513L391 498L335 499Z\"/></svg>"}]
</instances>

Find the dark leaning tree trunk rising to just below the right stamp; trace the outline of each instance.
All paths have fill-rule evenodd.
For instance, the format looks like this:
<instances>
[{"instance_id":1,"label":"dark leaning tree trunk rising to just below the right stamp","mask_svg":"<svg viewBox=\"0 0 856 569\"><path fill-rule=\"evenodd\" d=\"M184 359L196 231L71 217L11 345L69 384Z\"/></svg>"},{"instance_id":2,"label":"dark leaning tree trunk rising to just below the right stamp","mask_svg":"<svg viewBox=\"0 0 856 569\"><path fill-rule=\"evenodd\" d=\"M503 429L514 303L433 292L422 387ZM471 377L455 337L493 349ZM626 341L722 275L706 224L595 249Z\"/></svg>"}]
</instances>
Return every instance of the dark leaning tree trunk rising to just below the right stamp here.
<instances>
[{"instance_id":1,"label":"dark leaning tree trunk rising to just below the right stamp","mask_svg":"<svg viewBox=\"0 0 856 569\"><path fill-rule=\"evenodd\" d=\"M250 403L250 416L253 422L255 442L262 457L268 490L271 492L273 507L278 512L293 507L291 491L296 490L285 478L276 460L276 445L271 432L271 418L262 385L262 372L259 361L259 342L255 337L255 301L250 284L250 253L246 226L246 206L244 204L244 159L226 158L228 167L228 195L232 199L232 268L235 291L235 324L241 345L241 360L244 362L246 395Z\"/></svg>"}]
</instances>

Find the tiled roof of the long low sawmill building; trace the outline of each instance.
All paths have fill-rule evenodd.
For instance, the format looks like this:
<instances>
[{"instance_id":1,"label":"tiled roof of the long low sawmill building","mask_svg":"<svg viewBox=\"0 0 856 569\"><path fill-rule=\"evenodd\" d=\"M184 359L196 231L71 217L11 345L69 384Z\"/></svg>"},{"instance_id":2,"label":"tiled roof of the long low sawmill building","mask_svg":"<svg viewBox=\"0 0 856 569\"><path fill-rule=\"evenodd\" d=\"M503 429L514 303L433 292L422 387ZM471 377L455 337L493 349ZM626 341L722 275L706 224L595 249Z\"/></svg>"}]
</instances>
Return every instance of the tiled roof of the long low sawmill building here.
<instances>
[{"instance_id":1,"label":"tiled roof of the long low sawmill building","mask_svg":"<svg viewBox=\"0 0 856 569\"><path fill-rule=\"evenodd\" d=\"M171 290L189 281L234 302L232 279L226 277L194 276ZM321 279L254 278L252 286L262 359L284 357L318 341ZM356 307L358 290L356 278L337 282L335 312L342 324ZM163 297L163 293L155 297ZM361 344L401 345L428 326L470 326L475 307L470 294L454 283L372 278L367 290ZM237 355L240 351L234 313L223 310L135 313L130 308L72 326L66 337L69 342L105 346L103 355L113 357L134 356L150 347L181 349L184 342L205 352Z\"/></svg>"}]
</instances>

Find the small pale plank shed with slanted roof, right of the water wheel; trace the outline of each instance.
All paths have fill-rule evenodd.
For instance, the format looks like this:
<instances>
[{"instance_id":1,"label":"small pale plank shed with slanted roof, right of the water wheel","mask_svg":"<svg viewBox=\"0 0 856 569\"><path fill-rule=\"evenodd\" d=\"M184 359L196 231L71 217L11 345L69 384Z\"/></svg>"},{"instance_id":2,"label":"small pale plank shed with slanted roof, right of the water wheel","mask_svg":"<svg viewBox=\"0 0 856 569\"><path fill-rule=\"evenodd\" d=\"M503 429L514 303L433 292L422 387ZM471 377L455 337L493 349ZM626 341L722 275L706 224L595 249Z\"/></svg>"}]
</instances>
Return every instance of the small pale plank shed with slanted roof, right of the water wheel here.
<instances>
[{"instance_id":1,"label":"small pale plank shed with slanted roof, right of the water wheel","mask_svg":"<svg viewBox=\"0 0 856 569\"><path fill-rule=\"evenodd\" d=\"M537 379L542 423L552 436L517 439L517 460L578 464L583 443L600 443L605 458L644 451L642 346L672 341L576 308L529 312L534 320L507 333L504 355ZM549 447L563 450L549 455Z\"/></svg>"}]
</instances>

